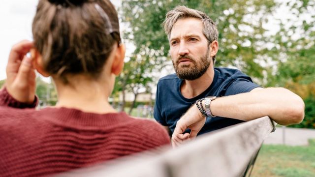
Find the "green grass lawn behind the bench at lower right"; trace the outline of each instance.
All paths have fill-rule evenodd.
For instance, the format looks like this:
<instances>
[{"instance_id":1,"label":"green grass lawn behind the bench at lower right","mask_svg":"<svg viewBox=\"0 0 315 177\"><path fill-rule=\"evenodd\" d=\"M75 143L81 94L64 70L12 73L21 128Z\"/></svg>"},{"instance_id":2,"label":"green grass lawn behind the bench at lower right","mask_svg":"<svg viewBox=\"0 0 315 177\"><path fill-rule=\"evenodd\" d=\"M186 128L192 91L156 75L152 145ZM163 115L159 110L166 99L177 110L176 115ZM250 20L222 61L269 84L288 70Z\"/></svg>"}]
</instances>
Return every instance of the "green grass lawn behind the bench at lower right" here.
<instances>
[{"instance_id":1,"label":"green grass lawn behind the bench at lower right","mask_svg":"<svg viewBox=\"0 0 315 177\"><path fill-rule=\"evenodd\" d=\"M315 177L315 140L309 146L263 145L252 177Z\"/></svg>"}]
</instances>

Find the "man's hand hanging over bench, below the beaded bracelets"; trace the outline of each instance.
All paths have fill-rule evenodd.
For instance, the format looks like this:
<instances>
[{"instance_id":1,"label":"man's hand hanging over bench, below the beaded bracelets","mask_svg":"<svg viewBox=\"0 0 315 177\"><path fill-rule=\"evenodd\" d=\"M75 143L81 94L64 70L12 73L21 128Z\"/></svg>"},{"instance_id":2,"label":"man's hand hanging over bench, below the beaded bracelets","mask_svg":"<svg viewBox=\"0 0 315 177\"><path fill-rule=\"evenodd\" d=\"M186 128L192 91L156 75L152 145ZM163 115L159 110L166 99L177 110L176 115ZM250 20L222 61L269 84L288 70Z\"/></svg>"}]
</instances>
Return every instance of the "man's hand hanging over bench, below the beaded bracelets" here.
<instances>
[{"instance_id":1,"label":"man's hand hanging over bench, below the beaded bracelets","mask_svg":"<svg viewBox=\"0 0 315 177\"><path fill-rule=\"evenodd\" d=\"M185 141L195 138L205 122L206 117L200 113L197 106L194 104L176 123L176 127L172 135L173 148L181 145ZM190 133L183 134L183 132L188 128L191 130Z\"/></svg>"}]
</instances>

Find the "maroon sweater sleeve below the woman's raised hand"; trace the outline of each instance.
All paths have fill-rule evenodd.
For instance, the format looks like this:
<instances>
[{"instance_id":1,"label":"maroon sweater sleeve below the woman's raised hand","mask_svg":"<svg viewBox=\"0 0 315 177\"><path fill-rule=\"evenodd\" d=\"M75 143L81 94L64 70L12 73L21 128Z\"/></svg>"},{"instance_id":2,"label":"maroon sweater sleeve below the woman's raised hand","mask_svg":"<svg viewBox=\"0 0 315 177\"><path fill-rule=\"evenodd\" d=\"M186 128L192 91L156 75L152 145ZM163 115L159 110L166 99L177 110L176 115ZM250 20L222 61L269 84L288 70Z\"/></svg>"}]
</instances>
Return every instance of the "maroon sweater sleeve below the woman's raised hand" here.
<instances>
[{"instance_id":1,"label":"maroon sweater sleeve below the woman's raised hand","mask_svg":"<svg viewBox=\"0 0 315 177\"><path fill-rule=\"evenodd\" d=\"M0 106L7 106L12 108L35 108L38 103L38 98L35 96L34 101L31 104L22 103L14 99L6 90L3 88L0 90Z\"/></svg>"}]
</instances>

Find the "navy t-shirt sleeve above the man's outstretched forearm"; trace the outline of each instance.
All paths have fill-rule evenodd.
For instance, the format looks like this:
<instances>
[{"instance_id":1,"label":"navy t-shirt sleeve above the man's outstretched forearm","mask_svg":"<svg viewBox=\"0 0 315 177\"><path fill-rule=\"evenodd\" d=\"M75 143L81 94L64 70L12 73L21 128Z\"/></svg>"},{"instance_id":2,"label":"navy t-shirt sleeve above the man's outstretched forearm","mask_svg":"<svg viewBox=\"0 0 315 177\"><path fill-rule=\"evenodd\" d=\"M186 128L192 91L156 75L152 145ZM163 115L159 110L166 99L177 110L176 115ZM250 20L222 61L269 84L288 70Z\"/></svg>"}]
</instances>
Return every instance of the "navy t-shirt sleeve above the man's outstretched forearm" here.
<instances>
[{"instance_id":1,"label":"navy t-shirt sleeve above the man's outstretched forearm","mask_svg":"<svg viewBox=\"0 0 315 177\"><path fill-rule=\"evenodd\" d=\"M252 91L252 89L258 88L257 84L252 83L251 79L237 78L231 82L225 92L225 96L235 95L238 93L246 93Z\"/></svg>"}]
</instances>

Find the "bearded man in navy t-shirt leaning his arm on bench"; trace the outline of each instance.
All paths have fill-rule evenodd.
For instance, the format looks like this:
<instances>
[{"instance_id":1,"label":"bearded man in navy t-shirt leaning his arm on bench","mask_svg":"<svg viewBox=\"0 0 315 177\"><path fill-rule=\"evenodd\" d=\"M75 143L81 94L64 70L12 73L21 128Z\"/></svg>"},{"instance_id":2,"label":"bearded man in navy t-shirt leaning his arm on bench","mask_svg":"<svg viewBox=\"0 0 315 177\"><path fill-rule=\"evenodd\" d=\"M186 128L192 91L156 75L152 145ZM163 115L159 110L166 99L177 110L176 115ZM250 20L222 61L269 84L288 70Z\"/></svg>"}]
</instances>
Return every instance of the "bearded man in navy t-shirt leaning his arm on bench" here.
<instances>
[{"instance_id":1,"label":"bearded man in navy t-shirt leaning his arm on bench","mask_svg":"<svg viewBox=\"0 0 315 177\"><path fill-rule=\"evenodd\" d=\"M176 74L159 80L154 117L173 134L173 146L254 118L282 125L303 120L303 100L293 92L263 89L239 70L214 68L218 30L205 13L177 6L163 25Z\"/></svg>"}]
</instances>

